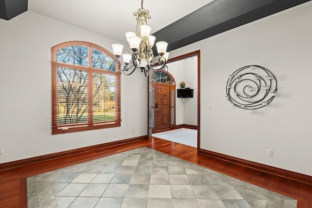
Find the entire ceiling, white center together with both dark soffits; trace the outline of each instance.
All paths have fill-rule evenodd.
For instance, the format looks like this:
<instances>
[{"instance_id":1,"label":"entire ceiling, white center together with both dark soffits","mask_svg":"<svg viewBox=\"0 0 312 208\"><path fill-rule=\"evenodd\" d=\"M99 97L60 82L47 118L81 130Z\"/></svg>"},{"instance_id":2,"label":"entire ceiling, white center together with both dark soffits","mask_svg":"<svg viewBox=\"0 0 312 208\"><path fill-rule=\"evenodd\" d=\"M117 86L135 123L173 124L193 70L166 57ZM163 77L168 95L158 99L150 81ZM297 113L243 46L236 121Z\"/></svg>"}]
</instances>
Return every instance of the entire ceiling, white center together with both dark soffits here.
<instances>
[{"instance_id":1,"label":"entire ceiling, white center together with both dark soffits","mask_svg":"<svg viewBox=\"0 0 312 208\"><path fill-rule=\"evenodd\" d=\"M148 24L167 51L283 11L310 0L144 0ZM31 11L126 43L136 30L140 0L0 0L0 18ZM153 48L154 54L156 50Z\"/></svg>"}]
</instances>

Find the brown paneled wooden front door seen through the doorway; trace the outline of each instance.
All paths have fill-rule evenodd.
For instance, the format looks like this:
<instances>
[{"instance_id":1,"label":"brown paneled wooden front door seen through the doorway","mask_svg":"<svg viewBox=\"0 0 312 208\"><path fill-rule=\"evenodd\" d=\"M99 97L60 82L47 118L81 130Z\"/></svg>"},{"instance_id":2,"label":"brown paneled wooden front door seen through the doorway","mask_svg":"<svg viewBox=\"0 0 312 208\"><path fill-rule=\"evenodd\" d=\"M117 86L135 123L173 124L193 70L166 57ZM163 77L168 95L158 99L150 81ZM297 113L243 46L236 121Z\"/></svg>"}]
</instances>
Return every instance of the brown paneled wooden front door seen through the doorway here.
<instances>
[{"instance_id":1,"label":"brown paneled wooden front door seen through the doorway","mask_svg":"<svg viewBox=\"0 0 312 208\"><path fill-rule=\"evenodd\" d=\"M170 86L155 83L155 131L170 128Z\"/></svg>"}]
</instances>

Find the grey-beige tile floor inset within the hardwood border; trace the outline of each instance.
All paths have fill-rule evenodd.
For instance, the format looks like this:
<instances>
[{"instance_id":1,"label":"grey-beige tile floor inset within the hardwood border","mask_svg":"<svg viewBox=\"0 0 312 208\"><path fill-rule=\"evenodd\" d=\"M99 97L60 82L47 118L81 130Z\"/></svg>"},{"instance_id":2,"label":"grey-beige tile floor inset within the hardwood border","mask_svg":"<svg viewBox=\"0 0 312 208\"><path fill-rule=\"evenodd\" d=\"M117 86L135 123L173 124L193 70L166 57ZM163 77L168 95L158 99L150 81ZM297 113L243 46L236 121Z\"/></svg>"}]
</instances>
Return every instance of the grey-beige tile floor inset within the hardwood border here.
<instances>
[{"instance_id":1,"label":"grey-beige tile floor inset within the hardwood border","mask_svg":"<svg viewBox=\"0 0 312 208\"><path fill-rule=\"evenodd\" d=\"M297 200L147 147L27 178L28 208L295 208Z\"/></svg>"}]
</instances>

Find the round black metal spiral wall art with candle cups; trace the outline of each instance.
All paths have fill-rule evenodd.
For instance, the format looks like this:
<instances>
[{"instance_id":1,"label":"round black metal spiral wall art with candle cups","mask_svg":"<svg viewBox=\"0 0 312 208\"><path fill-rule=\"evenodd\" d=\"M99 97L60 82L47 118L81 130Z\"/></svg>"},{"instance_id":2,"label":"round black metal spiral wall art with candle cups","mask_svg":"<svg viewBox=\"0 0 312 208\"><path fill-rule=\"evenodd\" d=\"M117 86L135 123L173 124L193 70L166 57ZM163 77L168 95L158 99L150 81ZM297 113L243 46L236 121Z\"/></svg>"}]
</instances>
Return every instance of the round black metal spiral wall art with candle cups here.
<instances>
[{"instance_id":1,"label":"round black metal spiral wall art with candle cups","mask_svg":"<svg viewBox=\"0 0 312 208\"><path fill-rule=\"evenodd\" d=\"M247 109L252 113L268 105L277 95L275 76L257 65L244 66L229 75L225 99L231 106Z\"/></svg>"}]
</instances>

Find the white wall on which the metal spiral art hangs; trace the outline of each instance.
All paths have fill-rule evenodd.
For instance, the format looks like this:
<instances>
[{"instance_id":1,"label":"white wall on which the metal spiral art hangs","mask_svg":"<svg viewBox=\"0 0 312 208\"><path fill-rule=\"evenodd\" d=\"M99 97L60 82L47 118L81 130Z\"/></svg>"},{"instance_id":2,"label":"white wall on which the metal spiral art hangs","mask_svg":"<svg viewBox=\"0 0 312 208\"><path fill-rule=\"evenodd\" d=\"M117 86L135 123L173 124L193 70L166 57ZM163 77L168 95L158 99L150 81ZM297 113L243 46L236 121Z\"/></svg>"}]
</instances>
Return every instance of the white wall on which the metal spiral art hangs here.
<instances>
[{"instance_id":1,"label":"white wall on which the metal spiral art hangs","mask_svg":"<svg viewBox=\"0 0 312 208\"><path fill-rule=\"evenodd\" d=\"M170 56L196 50L201 54L200 148L312 175L312 1ZM254 113L224 99L227 76L251 64L269 69L278 82L277 97ZM267 149L273 149L273 157Z\"/></svg>"}]
</instances>

